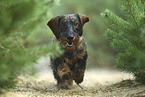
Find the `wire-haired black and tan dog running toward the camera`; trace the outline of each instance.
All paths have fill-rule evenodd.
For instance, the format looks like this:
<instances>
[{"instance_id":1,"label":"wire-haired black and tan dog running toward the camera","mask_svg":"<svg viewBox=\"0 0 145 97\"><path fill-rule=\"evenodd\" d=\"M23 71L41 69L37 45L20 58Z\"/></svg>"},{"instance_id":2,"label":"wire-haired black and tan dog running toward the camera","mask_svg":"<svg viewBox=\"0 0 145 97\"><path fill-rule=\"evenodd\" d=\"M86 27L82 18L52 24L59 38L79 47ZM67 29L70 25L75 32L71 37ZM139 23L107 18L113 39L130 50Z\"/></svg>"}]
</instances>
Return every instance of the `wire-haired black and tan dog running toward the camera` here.
<instances>
[{"instance_id":1,"label":"wire-haired black and tan dog running toward the camera","mask_svg":"<svg viewBox=\"0 0 145 97\"><path fill-rule=\"evenodd\" d=\"M58 15L47 23L52 30L53 41L58 41L64 50L63 55L51 58L51 68L57 86L70 89L73 80L79 85L84 78L88 57L83 37L83 25L89 17L82 14Z\"/></svg>"}]
</instances>

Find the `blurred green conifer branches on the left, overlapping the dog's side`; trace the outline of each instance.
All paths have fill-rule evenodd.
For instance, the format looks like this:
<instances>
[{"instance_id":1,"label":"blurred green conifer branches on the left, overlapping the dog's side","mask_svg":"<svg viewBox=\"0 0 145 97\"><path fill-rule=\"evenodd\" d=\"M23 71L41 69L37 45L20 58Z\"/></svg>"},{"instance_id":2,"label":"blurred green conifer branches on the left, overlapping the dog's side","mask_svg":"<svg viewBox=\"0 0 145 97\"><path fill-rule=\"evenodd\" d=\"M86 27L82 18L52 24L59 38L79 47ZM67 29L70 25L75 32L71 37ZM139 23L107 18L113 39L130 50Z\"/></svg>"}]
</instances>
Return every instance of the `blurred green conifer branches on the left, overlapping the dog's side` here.
<instances>
[{"instance_id":1,"label":"blurred green conifer branches on the left, overlapping the dog's side","mask_svg":"<svg viewBox=\"0 0 145 97\"><path fill-rule=\"evenodd\" d=\"M41 56L61 53L57 44L34 45L37 39L32 35L42 30L39 26L44 20L47 24L54 3L54 0L0 1L0 90L14 86L26 65Z\"/></svg>"}]
</instances>

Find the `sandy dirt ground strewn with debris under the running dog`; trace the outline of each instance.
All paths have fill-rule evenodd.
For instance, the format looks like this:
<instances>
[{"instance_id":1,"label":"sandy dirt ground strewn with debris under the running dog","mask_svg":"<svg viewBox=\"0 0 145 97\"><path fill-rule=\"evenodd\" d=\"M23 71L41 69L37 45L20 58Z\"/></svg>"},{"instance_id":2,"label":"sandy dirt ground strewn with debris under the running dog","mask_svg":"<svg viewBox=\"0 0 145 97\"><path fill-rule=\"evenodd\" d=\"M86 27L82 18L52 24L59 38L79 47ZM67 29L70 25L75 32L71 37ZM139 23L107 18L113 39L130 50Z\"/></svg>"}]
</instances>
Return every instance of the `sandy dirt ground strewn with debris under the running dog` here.
<instances>
[{"instance_id":1,"label":"sandy dirt ground strewn with debris under the running dog","mask_svg":"<svg viewBox=\"0 0 145 97\"><path fill-rule=\"evenodd\" d=\"M145 85L136 83L132 74L108 69L86 70L81 89L75 83L70 90L56 87L46 59L35 68L37 76L20 76L19 83L2 97L145 97Z\"/></svg>"}]
</instances>

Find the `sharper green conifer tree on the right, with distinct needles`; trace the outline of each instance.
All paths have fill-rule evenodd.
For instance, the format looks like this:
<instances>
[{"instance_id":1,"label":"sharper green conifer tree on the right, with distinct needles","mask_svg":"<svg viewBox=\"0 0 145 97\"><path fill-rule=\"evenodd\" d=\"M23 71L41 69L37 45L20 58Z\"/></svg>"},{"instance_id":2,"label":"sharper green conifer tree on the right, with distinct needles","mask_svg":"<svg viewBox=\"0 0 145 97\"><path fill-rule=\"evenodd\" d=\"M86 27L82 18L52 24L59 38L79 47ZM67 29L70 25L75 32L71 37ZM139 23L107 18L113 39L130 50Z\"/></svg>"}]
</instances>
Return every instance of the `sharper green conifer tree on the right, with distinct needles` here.
<instances>
[{"instance_id":1,"label":"sharper green conifer tree on the right, with distinct needles","mask_svg":"<svg viewBox=\"0 0 145 97\"><path fill-rule=\"evenodd\" d=\"M123 18L108 9L101 14L108 24L105 37L117 52L116 67L145 83L145 2L121 0L120 8Z\"/></svg>"}]
</instances>

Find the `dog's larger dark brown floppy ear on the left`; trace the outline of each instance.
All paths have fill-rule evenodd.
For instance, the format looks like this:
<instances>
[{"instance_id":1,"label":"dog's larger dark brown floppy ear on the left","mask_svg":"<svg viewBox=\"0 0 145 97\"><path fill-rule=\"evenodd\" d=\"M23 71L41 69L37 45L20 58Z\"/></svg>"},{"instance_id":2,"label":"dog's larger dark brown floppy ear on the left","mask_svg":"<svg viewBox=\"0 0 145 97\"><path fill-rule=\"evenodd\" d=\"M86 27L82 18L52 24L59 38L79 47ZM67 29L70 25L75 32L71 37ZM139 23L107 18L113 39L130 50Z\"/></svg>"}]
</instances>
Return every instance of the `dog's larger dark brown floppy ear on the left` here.
<instances>
[{"instance_id":1,"label":"dog's larger dark brown floppy ear on the left","mask_svg":"<svg viewBox=\"0 0 145 97\"><path fill-rule=\"evenodd\" d=\"M50 19L47 23L47 25L49 26L49 28L52 30L53 34L55 35L55 37L57 39L60 38L60 33L59 33L59 29L58 29L58 23L59 23L59 19L61 18L60 15Z\"/></svg>"}]
</instances>

